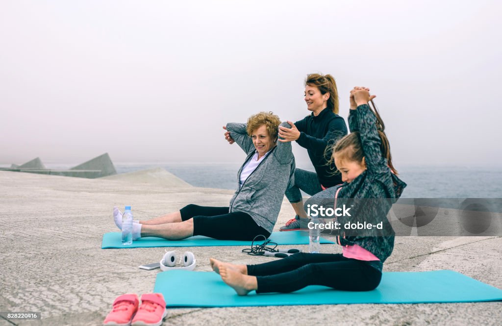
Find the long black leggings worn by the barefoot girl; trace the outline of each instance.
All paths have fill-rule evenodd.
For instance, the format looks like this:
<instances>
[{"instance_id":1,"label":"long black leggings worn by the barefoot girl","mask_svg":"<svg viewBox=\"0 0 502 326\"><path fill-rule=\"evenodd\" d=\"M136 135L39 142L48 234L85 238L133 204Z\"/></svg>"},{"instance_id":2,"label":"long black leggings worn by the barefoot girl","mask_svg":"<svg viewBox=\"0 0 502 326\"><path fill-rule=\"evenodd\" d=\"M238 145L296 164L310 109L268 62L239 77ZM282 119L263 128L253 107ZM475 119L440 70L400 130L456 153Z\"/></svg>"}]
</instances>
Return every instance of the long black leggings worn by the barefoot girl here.
<instances>
[{"instance_id":1,"label":"long black leggings worn by the barefoot girl","mask_svg":"<svg viewBox=\"0 0 502 326\"><path fill-rule=\"evenodd\" d=\"M265 264L247 265L247 274L257 277L257 293L293 292L307 285L369 291L382 279L382 271L341 254L298 253Z\"/></svg>"}]
</instances>

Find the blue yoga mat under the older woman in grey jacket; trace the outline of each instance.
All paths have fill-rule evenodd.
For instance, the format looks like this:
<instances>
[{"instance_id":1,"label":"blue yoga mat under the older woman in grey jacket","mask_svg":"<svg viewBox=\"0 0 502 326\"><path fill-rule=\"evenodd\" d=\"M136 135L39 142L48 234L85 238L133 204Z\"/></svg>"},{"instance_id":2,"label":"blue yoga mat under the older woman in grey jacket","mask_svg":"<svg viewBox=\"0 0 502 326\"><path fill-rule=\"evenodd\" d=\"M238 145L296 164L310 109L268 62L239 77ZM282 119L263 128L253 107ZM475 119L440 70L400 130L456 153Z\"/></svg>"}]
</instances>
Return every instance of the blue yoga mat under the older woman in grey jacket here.
<instances>
[{"instance_id":1,"label":"blue yoga mat under the older woman in grey jacket","mask_svg":"<svg viewBox=\"0 0 502 326\"><path fill-rule=\"evenodd\" d=\"M251 241L216 240L203 236L190 237L184 240L166 240L155 237L145 237L133 241L131 246L124 246L120 240L120 232L110 232L103 236L101 249L109 248L151 248L151 247L215 247L215 246L250 246ZM307 232L288 231L274 232L269 237L272 242L279 245L308 245L309 237ZM255 242L261 244L263 241ZM334 242L321 238L322 244L334 244Z\"/></svg>"}]
</instances>

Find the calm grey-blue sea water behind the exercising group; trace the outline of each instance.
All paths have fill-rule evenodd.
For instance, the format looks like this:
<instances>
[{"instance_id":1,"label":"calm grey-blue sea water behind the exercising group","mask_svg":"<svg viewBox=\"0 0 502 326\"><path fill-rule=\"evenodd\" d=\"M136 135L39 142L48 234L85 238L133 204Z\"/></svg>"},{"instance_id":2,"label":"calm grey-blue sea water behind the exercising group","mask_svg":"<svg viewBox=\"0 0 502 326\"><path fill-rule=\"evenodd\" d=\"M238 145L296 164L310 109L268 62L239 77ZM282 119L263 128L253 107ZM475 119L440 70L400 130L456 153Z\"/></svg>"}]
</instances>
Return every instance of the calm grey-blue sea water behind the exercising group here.
<instances>
[{"instance_id":1,"label":"calm grey-blue sea water behind the exercising group","mask_svg":"<svg viewBox=\"0 0 502 326\"><path fill-rule=\"evenodd\" d=\"M68 169L70 164L46 164ZM117 173L161 167L193 186L237 189L241 163L116 163ZM297 167L314 171L310 165ZM408 184L402 198L502 198L502 167L413 166L397 164L399 177ZM304 196L307 196L304 194Z\"/></svg>"}]
</instances>

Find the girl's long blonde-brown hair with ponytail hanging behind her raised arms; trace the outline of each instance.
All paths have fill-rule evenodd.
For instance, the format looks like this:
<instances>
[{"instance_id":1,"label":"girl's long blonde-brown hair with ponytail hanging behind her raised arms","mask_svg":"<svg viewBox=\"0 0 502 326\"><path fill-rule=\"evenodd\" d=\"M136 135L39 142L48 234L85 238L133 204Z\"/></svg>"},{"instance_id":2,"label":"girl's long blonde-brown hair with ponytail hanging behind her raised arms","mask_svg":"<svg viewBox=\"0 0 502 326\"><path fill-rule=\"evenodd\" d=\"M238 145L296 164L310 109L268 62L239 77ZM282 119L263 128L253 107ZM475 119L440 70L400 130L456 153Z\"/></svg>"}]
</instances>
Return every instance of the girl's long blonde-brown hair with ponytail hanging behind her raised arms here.
<instances>
[{"instance_id":1,"label":"girl's long blonde-brown hair with ponytail hanging behind her raised arms","mask_svg":"<svg viewBox=\"0 0 502 326\"><path fill-rule=\"evenodd\" d=\"M391 155L391 146L389 144L389 140L387 139L387 135L385 134L385 125L380 117L378 110L376 110L376 106L371 100L371 104L373 104L373 108L369 105L369 110L376 117L376 129L378 130L378 134L380 136L380 151L382 152L382 156L387 159L387 165L391 169L394 174L398 174L398 171L392 165L392 155ZM364 157L364 151L362 150L361 145L361 135L359 132L353 132L348 134L347 136L340 139L333 146L333 155L330 159L334 160L335 155L338 160L347 160L347 161L355 161L362 163L362 158Z\"/></svg>"}]
</instances>

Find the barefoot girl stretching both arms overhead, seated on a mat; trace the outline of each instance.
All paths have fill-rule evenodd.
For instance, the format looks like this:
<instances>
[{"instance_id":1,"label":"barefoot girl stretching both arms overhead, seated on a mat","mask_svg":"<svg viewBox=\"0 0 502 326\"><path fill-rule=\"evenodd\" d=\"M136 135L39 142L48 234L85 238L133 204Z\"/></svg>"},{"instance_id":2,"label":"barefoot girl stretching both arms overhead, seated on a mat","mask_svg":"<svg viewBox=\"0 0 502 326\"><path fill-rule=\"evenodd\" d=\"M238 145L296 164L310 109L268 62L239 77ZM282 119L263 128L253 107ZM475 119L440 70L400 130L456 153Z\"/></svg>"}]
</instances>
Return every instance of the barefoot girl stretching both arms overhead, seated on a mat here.
<instances>
[{"instance_id":1,"label":"barefoot girl stretching both arms overhead, seated on a mat","mask_svg":"<svg viewBox=\"0 0 502 326\"><path fill-rule=\"evenodd\" d=\"M380 284L383 263L394 248L394 232L386 216L406 184L396 176L380 115L368 105L374 97L364 87L354 87L350 92L348 120L352 133L333 149L343 181L337 186L335 200L381 198L373 201L378 205L366 205L359 210L360 214L352 213L350 218L339 218L338 222L342 226L345 222L365 221L373 225L383 222L384 229L373 228L355 235L352 231L349 237L345 236L345 231L349 230L339 230L337 242L343 246L342 254L299 253L259 265L233 265L211 259L213 270L237 294L246 295L253 290L257 293L292 292L307 285L369 291ZM306 205L313 204L309 200ZM340 202L335 201L335 205L340 207Z\"/></svg>"}]
</instances>

